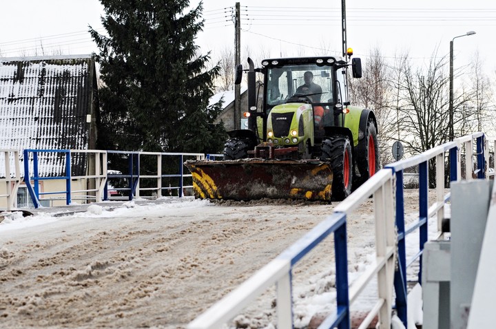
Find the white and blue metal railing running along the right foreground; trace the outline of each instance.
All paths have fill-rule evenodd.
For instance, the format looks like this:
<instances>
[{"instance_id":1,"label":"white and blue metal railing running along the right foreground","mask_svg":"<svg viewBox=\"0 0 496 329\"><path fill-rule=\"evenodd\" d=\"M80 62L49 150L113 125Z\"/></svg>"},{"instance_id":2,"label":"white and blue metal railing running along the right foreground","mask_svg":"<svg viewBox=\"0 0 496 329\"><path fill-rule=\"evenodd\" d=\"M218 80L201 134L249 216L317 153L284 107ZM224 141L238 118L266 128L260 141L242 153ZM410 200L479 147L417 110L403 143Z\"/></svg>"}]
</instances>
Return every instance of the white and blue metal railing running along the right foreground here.
<instances>
[{"instance_id":1,"label":"white and blue metal railing running along the right foreground","mask_svg":"<svg viewBox=\"0 0 496 329\"><path fill-rule=\"evenodd\" d=\"M474 139L476 140L476 169L474 169L473 163ZM349 306L375 275L378 277L378 299L359 328L367 328L375 315L379 315L380 328L390 328L393 287L396 295L395 308L397 309L397 315L404 323L404 326L408 328L406 267L412 264L415 259L422 257L424 243L428 239L428 218L433 216L437 218L438 235L442 235L441 224L444 218L444 206L451 198L450 193L444 194L444 159L446 153L448 153L447 157L449 158L451 181L462 179L461 149L465 150L466 179L484 178L486 165L484 145L484 134L476 133L457 138L453 142L447 142L413 158L386 166L354 191L346 200L338 204L332 215L324 222L318 224L298 242L260 269L254 276L194 319L187 328L220 328L273 284L276 284L277 290L277 328L292 328L291 268L331 233L335 236L336 308L335 312L327 317L319 328L349 328ZM431 167L435 167L436 173L436 200L431 205L428 202L429 161L434 162ZM411 167L418 167L419 171L419 215L418 220L405 229L402 176L404 170ZM395 184L395 191L393 191L393 184ZM346 217L365 200L369 200L370 195L373 195L374 204L376 265L365 270L349 286L347 279ZM394 200L395 213L393 213ZM395 237L395 228L397 237ZM404 238L416 229L419 229L420 233L419 252L407 264ZM397 268L395 268L396 257L398 259ZM422 266L422 262L420 262L420 266ZM421 275L422 268L420 267L418 273L419 282L422 279Z\"/></svg>"}]
</instances>

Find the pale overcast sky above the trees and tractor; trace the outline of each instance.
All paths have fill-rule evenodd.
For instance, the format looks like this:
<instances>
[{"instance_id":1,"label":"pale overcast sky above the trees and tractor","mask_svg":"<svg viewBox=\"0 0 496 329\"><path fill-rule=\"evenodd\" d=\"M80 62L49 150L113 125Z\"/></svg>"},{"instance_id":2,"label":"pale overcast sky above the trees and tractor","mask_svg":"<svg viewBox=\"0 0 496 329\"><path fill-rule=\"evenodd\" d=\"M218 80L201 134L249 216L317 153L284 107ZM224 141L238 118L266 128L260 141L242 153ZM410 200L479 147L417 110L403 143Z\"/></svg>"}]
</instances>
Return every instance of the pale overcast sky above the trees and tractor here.
<instances>
[{"instance_id":1,"label":"pale overcast sky above the trees and tractor","mask_svg":"<svg viewBox=\"0 0 496 329\"><path fill-rule=\"evenodd\" d=\"M269 56L339 55L341 1L249 0L242 8L242 50ZM198 3L192 0L192 6ZM236 1L205 0L205 30L198 35L202 50L215 57L234 47L231 8ZM304 7L303 5L306 5ZM0 11L0 52L11 57L34 54L43 45L50 54L96 51L87 26L100 29L103 8L98 0L10 0ZM384 56L409 52L416 59L448 56L454 36L455 66L466 65L479 51L488 70L496 53L496 1L347 1L347 40L355 56L366 58L373 47ZM103 32L103 31L102 31Z\"/></svg>"}]
</instances>

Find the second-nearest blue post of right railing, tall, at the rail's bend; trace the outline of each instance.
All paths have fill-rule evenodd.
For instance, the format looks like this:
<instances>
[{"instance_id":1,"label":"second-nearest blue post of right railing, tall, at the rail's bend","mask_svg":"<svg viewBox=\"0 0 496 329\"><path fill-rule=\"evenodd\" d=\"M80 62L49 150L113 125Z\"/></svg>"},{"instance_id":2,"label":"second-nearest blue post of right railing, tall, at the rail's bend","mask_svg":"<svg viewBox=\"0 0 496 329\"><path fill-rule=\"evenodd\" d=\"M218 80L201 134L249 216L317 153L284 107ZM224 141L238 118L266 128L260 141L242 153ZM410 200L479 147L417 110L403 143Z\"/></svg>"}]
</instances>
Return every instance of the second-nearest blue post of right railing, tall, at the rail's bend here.
<instances>
[{"instance_id":1,"label":"second-nearest blue post of right railing, tall, at the rail's bend","mask_svg":"<svg viewBox=\"0 0 496 329\"><path fill-rule=\"evenodd\" d=\"M396 228L398 234L397 260L398 267L395 270L394 287L396 293L396 312L405 328L408 328L407 315L407 290L406 290L406 246L404 228L404 193L403 193L403 171L397 171L396 175Z\"/></svg>"}]
</instances>

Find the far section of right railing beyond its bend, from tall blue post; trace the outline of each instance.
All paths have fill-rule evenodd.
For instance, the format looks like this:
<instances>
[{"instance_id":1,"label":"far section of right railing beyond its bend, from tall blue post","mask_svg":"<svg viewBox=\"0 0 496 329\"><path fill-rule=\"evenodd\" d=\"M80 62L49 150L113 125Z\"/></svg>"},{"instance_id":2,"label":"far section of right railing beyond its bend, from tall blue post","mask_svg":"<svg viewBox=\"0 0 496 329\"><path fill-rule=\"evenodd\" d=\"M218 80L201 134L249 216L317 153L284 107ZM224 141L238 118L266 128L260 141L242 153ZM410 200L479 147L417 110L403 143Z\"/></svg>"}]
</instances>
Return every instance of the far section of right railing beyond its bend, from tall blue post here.
<instances>
[{"instance_id":1,"label":"far section of right railing beyond its bend, from tall blue post","mask_svg":"<svg viewBox=\"0 0 496 329\"><path fill-rule=\"evenodd\" d=\"M473 140L476 141L477 169L473 167ZM438 237L442 235L442 220L445 217L444 205L451 198L451 193L444 194L444 176L445 176L445 158L448 153L450 181L462 179L462 148L465 149L465 177L472 179L475 175L477 178L484 178L484 134L475 133L455 139L453 142L446 142L439 147L425 151L422 154L412 158L394 162L386 165L387 169L392 169L396 178L395 209L396 209L396 228L398 235L397 259L398 268L395 271L395 307L397 315L400 317L404 326L407 325L407 280L406 268L409 267L416 259L420 258L418 282L422 282L422 253L424 244L428 240L428 219L435 217L437 219ZM435 202L431 205L428 203L428 161L435 159ZM403 193L403 174L405 169L418 167L419 172L419 216L416 222L405 228L404 213L404 193ZM419 230L419 252L411 259L406 259L406 235Z\"/></svg>"}]
</instances>

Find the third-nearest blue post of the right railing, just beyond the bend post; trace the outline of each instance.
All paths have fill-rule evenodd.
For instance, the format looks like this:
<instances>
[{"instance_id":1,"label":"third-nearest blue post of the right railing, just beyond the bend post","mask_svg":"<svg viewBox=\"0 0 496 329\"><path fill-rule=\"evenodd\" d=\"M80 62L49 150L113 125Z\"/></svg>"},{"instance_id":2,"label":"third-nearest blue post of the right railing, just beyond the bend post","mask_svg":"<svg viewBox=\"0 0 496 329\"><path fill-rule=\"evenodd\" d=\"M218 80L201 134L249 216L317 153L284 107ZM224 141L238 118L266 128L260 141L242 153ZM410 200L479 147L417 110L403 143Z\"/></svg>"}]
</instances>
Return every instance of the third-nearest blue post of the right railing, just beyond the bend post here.
<instances>
[{"instance_id":1,"label":"third-nearest blue post of the right railing, just beyond the bend post","mask_svg":"<svg viewBox=\"0 0 496 329\"><path fill-rule=\"evenodd\" d=\"M419 227L420 265L418 280L422 284L422 251L428 239L428 161L419 165L419 190L419 220L425 220L424 224Z\"/></svg>"}]
</instances>

